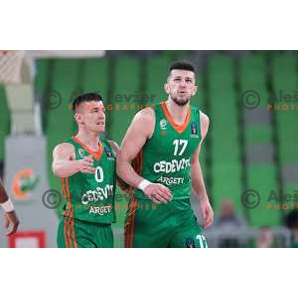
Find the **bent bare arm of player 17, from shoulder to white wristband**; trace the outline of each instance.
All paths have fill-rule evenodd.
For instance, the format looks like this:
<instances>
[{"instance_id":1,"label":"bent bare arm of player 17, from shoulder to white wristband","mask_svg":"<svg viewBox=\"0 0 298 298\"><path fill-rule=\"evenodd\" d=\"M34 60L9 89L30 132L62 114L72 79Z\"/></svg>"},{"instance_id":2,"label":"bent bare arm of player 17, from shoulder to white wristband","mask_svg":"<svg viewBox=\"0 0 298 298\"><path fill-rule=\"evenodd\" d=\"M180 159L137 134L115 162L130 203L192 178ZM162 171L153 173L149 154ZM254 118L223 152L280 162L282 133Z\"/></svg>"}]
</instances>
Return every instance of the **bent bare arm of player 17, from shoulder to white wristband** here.
<instances>
[{"instance_id":1,"label":"bent bare arm of player 17, from shoulder to white wristband","mask_svg":"<svg viewBox=\"0 0 298 298\"><path fill-rule=\"evenodd\" d=\"M143 178L136 173L131 162L142 150L146 140L152 136L154 126L154 112L149 109L140 111L133 119L118 152L117 174L133 187L138 187Z\"/></svg>"}]
</instances>

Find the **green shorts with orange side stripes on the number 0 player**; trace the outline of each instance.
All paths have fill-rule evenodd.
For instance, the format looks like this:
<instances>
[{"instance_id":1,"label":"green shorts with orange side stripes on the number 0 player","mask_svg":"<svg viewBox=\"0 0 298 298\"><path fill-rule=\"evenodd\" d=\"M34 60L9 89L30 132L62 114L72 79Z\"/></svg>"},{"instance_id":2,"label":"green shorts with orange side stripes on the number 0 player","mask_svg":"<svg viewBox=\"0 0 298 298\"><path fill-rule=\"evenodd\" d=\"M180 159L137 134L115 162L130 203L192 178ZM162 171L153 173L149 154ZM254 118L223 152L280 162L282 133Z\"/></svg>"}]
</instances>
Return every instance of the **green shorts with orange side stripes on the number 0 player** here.
<instances>
[{"instance_id":1,"label":"green shorts with orange side stripes on the number 0 player","mask_svg":"<svg viewBox=\"0 0 298 298\"><path fill-rule=\"evenodd\" d=\"M94 224L63 217L57 234L57 246L65 247L113 247L111 224Z\"/></svg>"}]
</instances>

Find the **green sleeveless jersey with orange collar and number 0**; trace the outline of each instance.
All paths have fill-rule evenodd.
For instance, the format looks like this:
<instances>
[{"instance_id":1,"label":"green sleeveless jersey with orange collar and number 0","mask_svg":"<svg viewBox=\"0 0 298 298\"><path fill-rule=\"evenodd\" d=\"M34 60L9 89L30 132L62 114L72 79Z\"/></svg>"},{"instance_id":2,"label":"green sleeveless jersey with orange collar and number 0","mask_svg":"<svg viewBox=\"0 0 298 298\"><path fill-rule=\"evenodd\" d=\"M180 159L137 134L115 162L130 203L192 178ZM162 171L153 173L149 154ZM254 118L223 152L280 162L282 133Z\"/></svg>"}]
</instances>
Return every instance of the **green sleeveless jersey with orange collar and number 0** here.
<instances>
[{"instance_id":1,"label":"green sleeveless jersey with orange collar and number 0","mask_svg":"<svg viewBox=\"0 0 298 298\"><path fill-rule=\"evenodd\" d=\"M68 201L64 216L91 223L114 223L116 159L110 144L100 137L98 152L92 152L76 137L65 143L74 146L76 160L93 155L96 171L95 174L78 172L71 177L61 178L62 192Z\"/></svg>"}]
</instances>

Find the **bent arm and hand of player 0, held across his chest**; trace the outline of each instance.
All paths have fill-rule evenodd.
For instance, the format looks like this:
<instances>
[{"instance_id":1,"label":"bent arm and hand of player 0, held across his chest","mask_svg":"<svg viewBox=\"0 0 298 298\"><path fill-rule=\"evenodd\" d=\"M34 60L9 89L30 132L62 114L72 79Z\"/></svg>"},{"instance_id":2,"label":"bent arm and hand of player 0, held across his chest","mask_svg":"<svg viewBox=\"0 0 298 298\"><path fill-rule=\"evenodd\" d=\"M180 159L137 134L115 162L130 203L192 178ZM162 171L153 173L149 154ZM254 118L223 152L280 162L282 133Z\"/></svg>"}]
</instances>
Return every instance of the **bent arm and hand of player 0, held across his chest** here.
<instances>
[{"instance_id":1,"label":"bent arm and hand of player 0, held across his chest","mask_svg":"<svg viewBox=\"0 0 298 298\"><path fill-rule=\"evenodd\" d=\"M93 159L86 156L75 160L74 146L68 143L58 145L53 151L53 173L57 177L70 177L78 172L94 173Z\"/></svg>"}]
</instances>

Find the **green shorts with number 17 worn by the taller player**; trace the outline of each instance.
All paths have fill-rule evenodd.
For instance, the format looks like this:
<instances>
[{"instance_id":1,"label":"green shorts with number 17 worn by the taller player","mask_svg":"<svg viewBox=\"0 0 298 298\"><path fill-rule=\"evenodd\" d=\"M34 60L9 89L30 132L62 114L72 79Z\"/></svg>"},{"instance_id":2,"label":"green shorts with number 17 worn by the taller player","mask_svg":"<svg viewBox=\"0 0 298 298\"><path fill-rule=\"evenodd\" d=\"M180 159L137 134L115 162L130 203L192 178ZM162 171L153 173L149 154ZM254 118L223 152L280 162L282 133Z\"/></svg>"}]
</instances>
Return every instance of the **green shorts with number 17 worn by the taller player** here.
<instances>
[{"instance_id":1,"label":"green shorts with number 17 worn by the taller player","mask_svg":"<svg viewBox=\"0 0 298 298\"><path fill-rule=\"evenodd\" d=\"M125 247L208 247L189 199L166 204L133 199L124 233Z\"/></svg>"}]
</instances>

